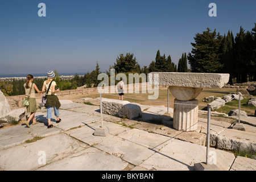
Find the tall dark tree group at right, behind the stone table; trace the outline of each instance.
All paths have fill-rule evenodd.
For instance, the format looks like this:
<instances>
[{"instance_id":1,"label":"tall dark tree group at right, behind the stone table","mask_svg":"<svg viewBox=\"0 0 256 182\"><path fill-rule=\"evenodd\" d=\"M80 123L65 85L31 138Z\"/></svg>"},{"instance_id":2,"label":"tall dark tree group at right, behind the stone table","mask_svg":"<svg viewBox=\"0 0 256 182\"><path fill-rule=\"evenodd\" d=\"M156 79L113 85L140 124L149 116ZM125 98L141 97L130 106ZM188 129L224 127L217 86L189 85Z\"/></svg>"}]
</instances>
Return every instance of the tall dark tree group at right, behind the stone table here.
<instances>
[{"instance_id":1,"label":"tall dark tree group at right, behind the stone table","mask_svg":"<svg viewBox=\"0 0 256 182\"><path fill-rule=\"evenodd\" d=\"M207 28L194 39L187 57L192 72L229 73L230 84L256 81L256 23L251 31L240 27L236 37Z\"/></svg>"}]
</instances>

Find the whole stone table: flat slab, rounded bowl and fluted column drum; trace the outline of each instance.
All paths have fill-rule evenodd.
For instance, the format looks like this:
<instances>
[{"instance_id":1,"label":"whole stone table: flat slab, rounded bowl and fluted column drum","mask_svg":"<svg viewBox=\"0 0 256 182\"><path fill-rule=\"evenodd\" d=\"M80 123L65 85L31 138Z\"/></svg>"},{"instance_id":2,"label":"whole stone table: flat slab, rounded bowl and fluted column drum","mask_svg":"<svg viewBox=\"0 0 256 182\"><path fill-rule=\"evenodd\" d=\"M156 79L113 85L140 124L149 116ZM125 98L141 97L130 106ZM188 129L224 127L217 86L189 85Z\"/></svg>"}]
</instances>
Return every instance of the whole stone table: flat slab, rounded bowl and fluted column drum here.
<instances>
[{"instance_id":1,"label":"whole stone table: flat slab, rounded bowl and fluted column drum","mask_svg":"<svg viewBox=\"0 0 256 182\"><path fill-rule=\"evenodd\" d=\"M158 79L154 79L156 76ZM195 131L199 103L196 97L203 88L222 88L228 81L229 74L152 72L150 84L168 86L168 90L175 97L174 128L180 131Z\"/></svg>"}]
</instances>

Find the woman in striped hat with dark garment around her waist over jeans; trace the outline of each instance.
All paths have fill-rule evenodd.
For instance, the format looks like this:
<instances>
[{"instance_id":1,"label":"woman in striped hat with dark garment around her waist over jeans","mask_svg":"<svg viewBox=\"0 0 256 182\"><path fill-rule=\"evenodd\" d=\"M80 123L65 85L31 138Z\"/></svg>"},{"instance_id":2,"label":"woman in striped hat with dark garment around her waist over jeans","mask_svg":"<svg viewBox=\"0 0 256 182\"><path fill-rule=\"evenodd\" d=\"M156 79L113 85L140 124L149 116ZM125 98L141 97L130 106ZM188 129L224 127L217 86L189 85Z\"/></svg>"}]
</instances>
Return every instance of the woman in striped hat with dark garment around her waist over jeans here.
<instances>
[{"instance_id":1,"label":"woman in striped hat with dark garment around her waist over jeans","mask_svg":"<svg viewBox=\"0 0 256 182\"><path fill-rule=\"evenodd\" d=\"M54 109L54 115L57 118L56 123L61 122L61 119L59 118L59 107L60 107L60 101L59 98L57 97L57 92L60 92L60 89L55 89L56 88L56 82L53 81L53 78L55 77L55 73L53 71L49 71L47 73L48 75L48 80L44 81L42 92L45 90L48 90L49 92L47 94L47 102L44 106L46 106L47 109L47 119L48 119L48 129L53 127L51 124L51 119L52 119L52 107Z\"/></svg>"}]
</instances>

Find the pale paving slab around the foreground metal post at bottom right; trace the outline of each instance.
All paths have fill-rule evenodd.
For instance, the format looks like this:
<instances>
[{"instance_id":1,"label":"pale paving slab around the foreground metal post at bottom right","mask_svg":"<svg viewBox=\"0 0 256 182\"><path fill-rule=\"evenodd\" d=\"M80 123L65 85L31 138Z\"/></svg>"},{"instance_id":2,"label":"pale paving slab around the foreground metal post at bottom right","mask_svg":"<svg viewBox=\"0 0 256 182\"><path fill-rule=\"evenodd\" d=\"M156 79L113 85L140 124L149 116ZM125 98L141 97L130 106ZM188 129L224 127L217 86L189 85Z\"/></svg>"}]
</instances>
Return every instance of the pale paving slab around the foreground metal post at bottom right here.
<instances>
[{"instance_id":1,"label":"pale paving slab around the foreground metal post at bottom right","mask_svg":"<svg viewBox=\"0 0 256 182\"><path fill-rule=\"evenodd\" d=\"M235 157L232 153L210 149L216 152L216 166L221 170L229 170ZM197 144L172 139L166 146L155 152L140 167L161 171L194 170L194 164L206 161L206 147Z\"/></svg>"}]
</instances>

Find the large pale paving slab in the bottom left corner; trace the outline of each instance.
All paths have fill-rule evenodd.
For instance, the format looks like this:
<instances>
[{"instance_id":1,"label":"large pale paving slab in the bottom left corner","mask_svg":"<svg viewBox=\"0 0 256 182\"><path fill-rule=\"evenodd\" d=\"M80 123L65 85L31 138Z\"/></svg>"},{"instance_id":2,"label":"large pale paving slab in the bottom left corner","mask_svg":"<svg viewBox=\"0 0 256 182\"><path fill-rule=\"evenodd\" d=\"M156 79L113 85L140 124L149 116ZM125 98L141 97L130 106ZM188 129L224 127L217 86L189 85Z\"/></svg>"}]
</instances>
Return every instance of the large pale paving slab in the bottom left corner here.
<instances>
[{"instance_id":1,"label":"large pale paving slab in the bottom left corner","mask_svg":"<svg viewBox=\"0 0 256 182\"><path fill-rule=\"evenodd\" d=\"M40 151L46 154L46 164L80 152L89 146L66 134L46 137L37 142L20 144L6 150L0 150L0 168L3 170L33 170L42 167L39 164Z\"/></svg>"}]
</instances>

